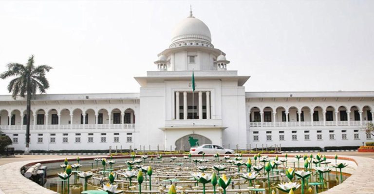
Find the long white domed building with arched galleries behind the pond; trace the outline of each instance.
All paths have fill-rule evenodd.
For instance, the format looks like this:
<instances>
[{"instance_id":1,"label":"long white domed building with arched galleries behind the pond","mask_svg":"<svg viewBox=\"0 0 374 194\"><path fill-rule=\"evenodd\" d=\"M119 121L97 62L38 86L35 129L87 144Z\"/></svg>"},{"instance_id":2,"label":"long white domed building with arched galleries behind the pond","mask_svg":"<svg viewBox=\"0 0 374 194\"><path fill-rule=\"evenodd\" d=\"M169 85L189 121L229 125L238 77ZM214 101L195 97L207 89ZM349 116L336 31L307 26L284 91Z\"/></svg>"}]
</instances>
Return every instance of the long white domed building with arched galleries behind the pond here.
<instances>
[{"instance_id":1,"label":"long white domed building with arched galleries behind the pond","mask_svg":"<svg viewBox=\"0 0 374 194\"><path fill-rule=\"evenodd\" d=\"M231 148L359 146L370 139L361 128L373 120L374 92L245 92L249 76L227 70L229 63L191 13L158 54L157 70L135 77L140 93L37 95L30 149L179 150L188 139ZM25 109L25 99L0 96L0 130L16 149L25 147Z\"/></svg>"}]
</instances>

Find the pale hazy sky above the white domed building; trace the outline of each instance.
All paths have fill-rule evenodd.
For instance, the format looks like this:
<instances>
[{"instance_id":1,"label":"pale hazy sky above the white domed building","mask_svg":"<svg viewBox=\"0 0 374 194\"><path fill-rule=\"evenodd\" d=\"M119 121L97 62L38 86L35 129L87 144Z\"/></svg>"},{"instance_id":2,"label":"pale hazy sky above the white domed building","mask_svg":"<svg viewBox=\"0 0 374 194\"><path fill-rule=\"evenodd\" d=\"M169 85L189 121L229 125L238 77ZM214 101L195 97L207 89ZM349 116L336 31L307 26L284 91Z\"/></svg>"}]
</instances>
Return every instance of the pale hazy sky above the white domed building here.
<instances>
[{"instance_id":1,"label":"pale hazy sky above the white domed building","mask_svg":"<svg viewBox=\"0 0 374 194\"><path fill-rule=\"evenodd\" d=\"M139 92L190 4L247 92L374 91L374 0L1 0L0 72L33 54L48 94Z\"/></svg>"}]
</instances>

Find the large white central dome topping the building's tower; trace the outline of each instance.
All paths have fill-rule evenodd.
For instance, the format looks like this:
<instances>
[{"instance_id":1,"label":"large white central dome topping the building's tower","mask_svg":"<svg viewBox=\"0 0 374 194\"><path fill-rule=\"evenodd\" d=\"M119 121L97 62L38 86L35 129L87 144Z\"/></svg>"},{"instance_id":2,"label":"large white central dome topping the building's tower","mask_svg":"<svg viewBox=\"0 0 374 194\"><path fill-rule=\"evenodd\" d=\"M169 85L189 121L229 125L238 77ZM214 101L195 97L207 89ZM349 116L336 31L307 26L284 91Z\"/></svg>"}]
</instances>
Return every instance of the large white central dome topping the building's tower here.
<instances>
[{"instance_id":1,"label":"large white central dome topping the building's tower","mask_svg":"<svg viewBox=\"0 0 374 194\"><path fill-rule=\"evenodd\" d=\"M172 33L171 42L180 42L186 40L197 40L211 42L210 30L206 24L193 16L182 20Z\"/></svg>"}]
</instances>

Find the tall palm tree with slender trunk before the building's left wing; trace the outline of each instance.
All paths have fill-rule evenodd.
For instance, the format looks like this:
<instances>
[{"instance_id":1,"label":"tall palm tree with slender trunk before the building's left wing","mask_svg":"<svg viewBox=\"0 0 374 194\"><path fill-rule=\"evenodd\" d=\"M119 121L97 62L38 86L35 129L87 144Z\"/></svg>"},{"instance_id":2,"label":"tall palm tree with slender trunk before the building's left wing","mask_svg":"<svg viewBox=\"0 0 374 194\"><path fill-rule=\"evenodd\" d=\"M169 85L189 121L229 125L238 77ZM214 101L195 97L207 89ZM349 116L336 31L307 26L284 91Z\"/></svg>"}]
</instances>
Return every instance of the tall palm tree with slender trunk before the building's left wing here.
<instances>
[{"instance_id":1,"label":"tall palm tree with slender trunk before the building's left wing","mask_svg":"<svg viewBox=\"0 0 374 194\"><path fill-rule=\"evenodd\" d=\"M10 63L6 65L8 70L0 75L1 79L6 79L9 77L16 77L9 82L8 91L12 93L14 99L17 95L20 97L27 97L27 107L26 107L26 149L25 153L29 152L30 143L30 114L31 114L31 98L37 93L45 93L49 88L49 82L45 77L45 73L49 72L52 67L48 65L34 66L34 55L31 55L26 65ZM34 121L36 122L36 121Z\"/></svg>"}]
</instances>

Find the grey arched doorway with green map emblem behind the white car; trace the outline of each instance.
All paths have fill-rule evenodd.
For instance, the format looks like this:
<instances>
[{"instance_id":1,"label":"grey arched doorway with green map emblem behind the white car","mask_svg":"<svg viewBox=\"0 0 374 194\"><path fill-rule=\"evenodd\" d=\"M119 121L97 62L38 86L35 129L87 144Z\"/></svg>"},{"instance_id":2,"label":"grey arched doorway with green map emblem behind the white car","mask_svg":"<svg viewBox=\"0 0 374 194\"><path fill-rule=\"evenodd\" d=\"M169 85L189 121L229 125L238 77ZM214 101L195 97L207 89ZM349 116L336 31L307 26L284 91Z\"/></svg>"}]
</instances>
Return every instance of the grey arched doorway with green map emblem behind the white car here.
<instances>
[{"instance_id":1,"label":"grey arched doorway with green map emblem behind the white car","mask_svg":"<svg viewBox=\"0 0 374 194\"><path fill-rule=\"evenodd\" d=\"M191 148L191 145L193 147L193 146L199 146L203 144L212 144L212 141L198 134L189 134L175 141L176 150L185 150L185 151L189 151L189 148Z\"/></svg>"}]
</instances>

